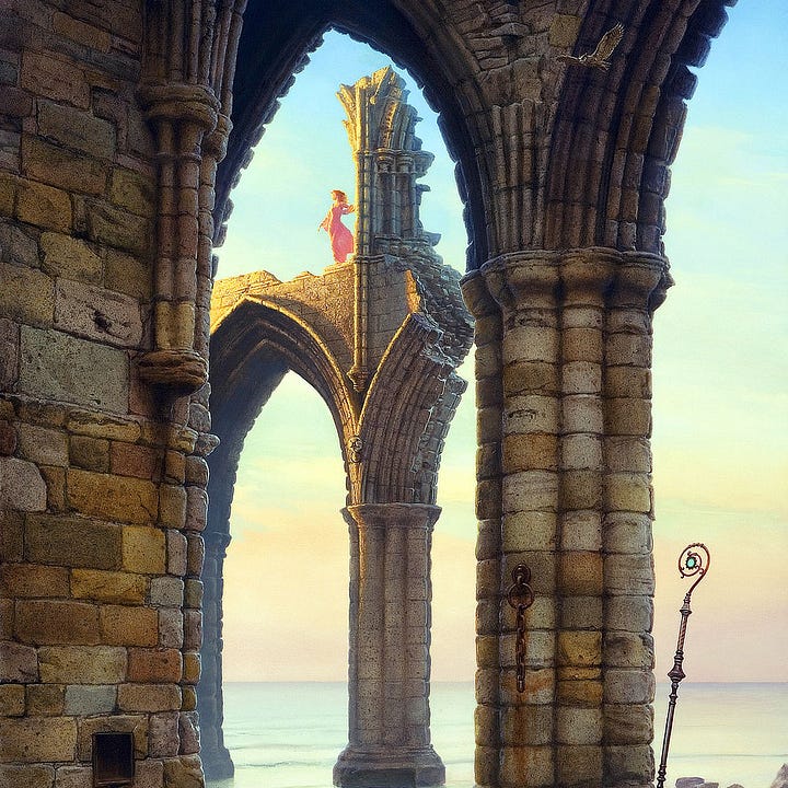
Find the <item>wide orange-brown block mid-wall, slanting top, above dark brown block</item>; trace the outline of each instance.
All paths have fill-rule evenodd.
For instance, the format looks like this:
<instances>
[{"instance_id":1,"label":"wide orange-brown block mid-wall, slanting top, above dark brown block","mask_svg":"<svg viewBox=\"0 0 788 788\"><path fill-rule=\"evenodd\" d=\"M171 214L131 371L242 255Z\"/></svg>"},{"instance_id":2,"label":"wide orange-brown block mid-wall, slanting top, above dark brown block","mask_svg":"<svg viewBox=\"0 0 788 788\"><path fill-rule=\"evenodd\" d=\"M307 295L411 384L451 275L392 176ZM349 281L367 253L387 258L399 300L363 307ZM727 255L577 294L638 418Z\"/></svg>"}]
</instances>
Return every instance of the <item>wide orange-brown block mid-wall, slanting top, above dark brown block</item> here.
<instances>
[{"instance_id":1,"label":"wide orange-brown block mid-wall, slanting top, above dark brown block","mask_svg":"<svg viewBox=\"0 0 788 788\"><path fill-rule=\"evenodd\" d=\"M118 522L155 522L158 490L152 482L71 468L67 473L67 484L69 503L83 514ZM127 543L132 538L127 533L139 534L139 531L126 529L124 532L124 567L130 571L141 571L126 560Z\"/></svg>"}]
</instances>

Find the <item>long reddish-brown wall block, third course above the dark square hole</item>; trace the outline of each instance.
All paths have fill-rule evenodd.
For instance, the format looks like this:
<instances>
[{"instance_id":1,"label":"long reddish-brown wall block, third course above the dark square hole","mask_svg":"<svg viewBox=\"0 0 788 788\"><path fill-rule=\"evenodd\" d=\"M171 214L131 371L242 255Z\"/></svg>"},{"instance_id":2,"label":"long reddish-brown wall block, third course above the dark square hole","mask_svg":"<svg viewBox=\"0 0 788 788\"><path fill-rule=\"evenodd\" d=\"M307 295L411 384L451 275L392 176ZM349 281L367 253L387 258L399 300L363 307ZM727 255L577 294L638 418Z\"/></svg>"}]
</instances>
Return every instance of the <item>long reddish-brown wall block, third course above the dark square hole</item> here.
<instances>
[{"instance_id":1,"label":"long reddish-brown wall block, third course above the dark square hole","mask_svg":"<svg viewBox=\"0 0 788 788\"><path fill-rule=\"evenodd\" d=\"M95 605L61 600L25 600L16 603L14 634L20 642L36 645L100 642Z\"/></svg>"}]
</instances>

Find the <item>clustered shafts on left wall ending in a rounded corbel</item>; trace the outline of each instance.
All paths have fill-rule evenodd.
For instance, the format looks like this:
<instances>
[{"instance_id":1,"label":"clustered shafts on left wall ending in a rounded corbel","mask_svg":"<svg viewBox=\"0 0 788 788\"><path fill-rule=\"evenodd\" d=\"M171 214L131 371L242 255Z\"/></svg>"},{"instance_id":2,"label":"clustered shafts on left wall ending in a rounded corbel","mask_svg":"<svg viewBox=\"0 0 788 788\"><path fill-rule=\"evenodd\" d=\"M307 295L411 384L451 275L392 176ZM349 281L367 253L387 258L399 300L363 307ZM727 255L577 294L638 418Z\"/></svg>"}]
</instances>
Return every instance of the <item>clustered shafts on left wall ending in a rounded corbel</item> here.
<instances>
[{"instance_id":1,"label":"clustered shafts on left wall ending in a rounded corbel","mask_svg":"<svg viewBox=\"0 0 788 788\"><path fill-rule=\"evenodd\" d=\"M232 124L232 78L245 0L150 3L138 91L154 130L159 207L149 384L175 394L208 378L213 188Z\"/></svg>"}]
</instances>

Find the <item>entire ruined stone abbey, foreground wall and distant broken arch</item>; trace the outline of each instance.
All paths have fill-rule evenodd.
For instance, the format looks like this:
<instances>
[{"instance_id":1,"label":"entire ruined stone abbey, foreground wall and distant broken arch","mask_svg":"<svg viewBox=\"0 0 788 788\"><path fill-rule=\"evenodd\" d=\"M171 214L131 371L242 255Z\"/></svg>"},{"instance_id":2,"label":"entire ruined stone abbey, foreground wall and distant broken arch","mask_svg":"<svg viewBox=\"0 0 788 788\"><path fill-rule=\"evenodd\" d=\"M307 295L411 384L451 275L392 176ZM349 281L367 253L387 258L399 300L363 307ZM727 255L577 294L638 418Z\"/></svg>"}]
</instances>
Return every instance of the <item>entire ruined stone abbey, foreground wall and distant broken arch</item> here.
<instances>
[{"instance_id":1,"label":"entire ruined stone abbey, foreground wall and distant broken arch","mask_svg":"<svg viewBox=\"0 0 788 788\"><path fill-rule=\"evenodd\" d=\"M429 551L472 339L476 785L652 785L663 202L688 67L733 2L2 3L0 788L230 773L221 566L244 437L288 370L325 399L347 476L334 780L439 785ZM215 288L231 189L329 27L439 113L461 281L421 227L430 155L384 70L340 91L356 253Z\"/></svg>"}]
</instances>

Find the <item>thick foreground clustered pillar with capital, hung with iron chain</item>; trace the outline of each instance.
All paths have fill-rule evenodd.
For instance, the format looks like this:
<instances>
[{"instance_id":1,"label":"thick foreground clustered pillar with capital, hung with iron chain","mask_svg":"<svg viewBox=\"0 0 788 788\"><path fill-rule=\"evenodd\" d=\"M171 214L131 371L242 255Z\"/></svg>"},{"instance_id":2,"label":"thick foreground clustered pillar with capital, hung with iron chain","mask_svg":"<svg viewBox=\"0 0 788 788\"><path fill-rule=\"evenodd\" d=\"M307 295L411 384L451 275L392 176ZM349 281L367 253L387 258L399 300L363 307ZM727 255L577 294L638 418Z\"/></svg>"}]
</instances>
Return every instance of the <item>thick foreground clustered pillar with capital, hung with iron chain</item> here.
<instances>
[{"instance_id":1,"label":"thick foreground clustered pillar with capital, hung with iron chain","mask_svg":"<svg viewBox=\"0 0 788 788\"><path fill-rule=\"evenodd\" d=\"M649 366L668 281L663 258L603 248L505 255L464 281L480 407L479 787L653 777ZM506 601L518 564L535 594L523 692Z\"/></svg>"}]
</instances>

